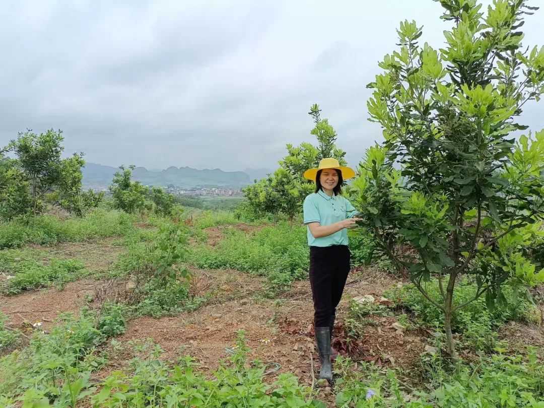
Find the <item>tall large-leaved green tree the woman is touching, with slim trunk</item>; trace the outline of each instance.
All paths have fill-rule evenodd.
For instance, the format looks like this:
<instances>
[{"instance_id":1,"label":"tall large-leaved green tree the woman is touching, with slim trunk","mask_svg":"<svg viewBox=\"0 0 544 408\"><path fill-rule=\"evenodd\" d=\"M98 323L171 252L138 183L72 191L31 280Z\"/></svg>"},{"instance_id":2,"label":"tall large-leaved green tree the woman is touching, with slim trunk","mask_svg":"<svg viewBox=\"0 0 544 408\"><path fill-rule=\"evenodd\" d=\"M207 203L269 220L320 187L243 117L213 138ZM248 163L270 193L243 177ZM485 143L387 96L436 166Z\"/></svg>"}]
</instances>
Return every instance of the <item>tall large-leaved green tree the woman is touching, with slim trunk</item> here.
<instances>
[{"instance_id":1,"label":"tall large-leaved green tree the woman is touching, with slim trunk","mask_svg":"<svg viewBox=\"0 0 544 408\"><path fill-rule=\"evenodd\" d=\"M440 3L455 23L444 49L420 46L421 28L405 21L400 50L368 85L370 121L385 141L367 151L353 193L394 265L444 311L455 356L459 275L477 283L474 299L485 295L489 307L504 302L505 282L544 281L543 265L524 251L544 211L544 131L511 135L527 128L517 123L523 105L544 92L544 48L522 47L518 29L535 9L524 0L496 0L486 16L475 0ZM425 293L431 276L441 302Z\"/></svg>"}]
</instances>

